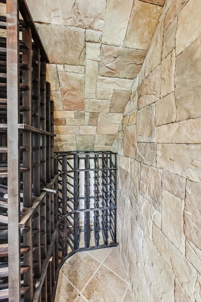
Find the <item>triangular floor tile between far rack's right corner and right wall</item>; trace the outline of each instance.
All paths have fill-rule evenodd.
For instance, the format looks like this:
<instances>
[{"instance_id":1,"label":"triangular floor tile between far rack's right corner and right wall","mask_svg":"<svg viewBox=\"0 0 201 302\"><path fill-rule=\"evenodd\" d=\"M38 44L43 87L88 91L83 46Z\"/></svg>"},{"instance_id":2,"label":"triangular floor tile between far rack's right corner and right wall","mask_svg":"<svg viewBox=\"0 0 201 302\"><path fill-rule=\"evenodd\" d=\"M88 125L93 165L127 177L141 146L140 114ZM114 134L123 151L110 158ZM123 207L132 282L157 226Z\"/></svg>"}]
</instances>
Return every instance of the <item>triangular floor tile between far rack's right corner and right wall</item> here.
<instances>
[{"instance_id":1,"label":"triangular floor tile between far rack's right corner and right wall","mask_svg":"<svg viewBox=\"0 0 201 302\"><path fill-rule=\"evenodd\" d=\"M109 267L113 272L115 272L126 282L128 283L130 282L117 247L113 248L111 253L107 256L106 260L103 262L103 264Z\"/></svg>"}]
</instances>

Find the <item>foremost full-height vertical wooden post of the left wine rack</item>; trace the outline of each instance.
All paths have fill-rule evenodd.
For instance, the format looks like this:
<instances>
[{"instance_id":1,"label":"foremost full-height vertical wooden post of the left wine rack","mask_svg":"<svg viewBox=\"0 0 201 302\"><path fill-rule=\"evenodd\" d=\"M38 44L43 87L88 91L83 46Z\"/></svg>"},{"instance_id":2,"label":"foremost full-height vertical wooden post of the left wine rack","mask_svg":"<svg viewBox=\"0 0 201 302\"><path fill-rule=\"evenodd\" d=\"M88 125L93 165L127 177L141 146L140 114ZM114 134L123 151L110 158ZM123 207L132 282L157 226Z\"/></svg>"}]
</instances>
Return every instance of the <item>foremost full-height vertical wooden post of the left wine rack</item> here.
<instances>
[{"instance_id":1,"label":"foremost full-height vertical wooden post of the left wine rack","mask_svg":"<svg viewBox=\"0 0 201 302\"><path fill-rule=\"evenodd\" d=\"M19 174L19 3L7 0L8 284L9 301L21 301Z\"/></svg>"}]
</instances>

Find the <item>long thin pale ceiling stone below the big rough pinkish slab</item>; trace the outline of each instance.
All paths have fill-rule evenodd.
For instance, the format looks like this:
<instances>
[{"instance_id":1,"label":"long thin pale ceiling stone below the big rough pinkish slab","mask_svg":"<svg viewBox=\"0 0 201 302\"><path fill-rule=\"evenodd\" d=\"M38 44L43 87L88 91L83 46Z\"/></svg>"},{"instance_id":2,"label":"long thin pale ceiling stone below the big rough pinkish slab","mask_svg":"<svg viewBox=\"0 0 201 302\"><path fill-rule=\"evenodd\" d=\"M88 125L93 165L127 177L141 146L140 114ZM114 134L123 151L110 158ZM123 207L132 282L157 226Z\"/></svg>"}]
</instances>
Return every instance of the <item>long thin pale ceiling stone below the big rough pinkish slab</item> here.
<instances>
[{"instance_id":1,"label":"long thin pale ceiling stone below the big rough pinkish slab","mask_svg":"<svg viewBox=\"0 0 201 302\"><path fill-rule=\"evenodd\" d=\"M133 80L98 76L97 88L131 90Z\"/></svg>"}]
</instances>

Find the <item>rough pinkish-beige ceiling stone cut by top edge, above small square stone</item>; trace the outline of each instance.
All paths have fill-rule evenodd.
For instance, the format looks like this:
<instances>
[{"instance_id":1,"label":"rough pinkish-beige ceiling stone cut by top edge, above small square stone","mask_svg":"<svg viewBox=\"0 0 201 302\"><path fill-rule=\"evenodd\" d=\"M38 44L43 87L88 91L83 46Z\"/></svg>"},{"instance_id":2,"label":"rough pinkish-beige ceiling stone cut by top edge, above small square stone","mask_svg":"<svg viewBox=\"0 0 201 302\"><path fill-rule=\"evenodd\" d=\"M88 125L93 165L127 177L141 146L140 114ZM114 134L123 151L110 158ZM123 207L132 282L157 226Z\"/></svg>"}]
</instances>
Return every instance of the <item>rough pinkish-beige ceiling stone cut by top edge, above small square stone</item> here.
<instances>
[{"instance_id":1,"label":"rough pinkish-beige ceiling stone cut by top edge, above small square stone","mask_svg":"<svg viewBox=\"0 0 201 302\"><path fill-rule=\"evenodd\" d=\"M77 0L76 19L77 26L102 30L106 10L106 0Z\"/></svg>"}]
</instances>

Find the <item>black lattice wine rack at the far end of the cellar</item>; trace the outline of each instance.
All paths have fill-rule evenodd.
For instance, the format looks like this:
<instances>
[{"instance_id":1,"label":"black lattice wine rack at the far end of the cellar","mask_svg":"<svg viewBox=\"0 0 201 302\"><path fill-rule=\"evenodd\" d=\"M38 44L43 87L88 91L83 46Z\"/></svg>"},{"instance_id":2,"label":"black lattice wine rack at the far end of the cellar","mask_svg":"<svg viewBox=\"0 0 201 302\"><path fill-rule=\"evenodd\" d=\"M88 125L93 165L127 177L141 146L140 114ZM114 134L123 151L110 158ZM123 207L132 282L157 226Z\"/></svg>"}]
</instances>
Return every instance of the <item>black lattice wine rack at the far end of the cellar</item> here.
<instances>
[{"instance_id":1,"label":"black lattice wine rack at the far end of the cellar","mask_svg":"<svg viewBox=\"0 0 201 302\"><path fill-rule=\"evenodd\" d=\"M59 174L58 217L68 213L59 228L60 258L116 246L117 154L57 153L55 171Z\"/></svg>"}]
</instances>

